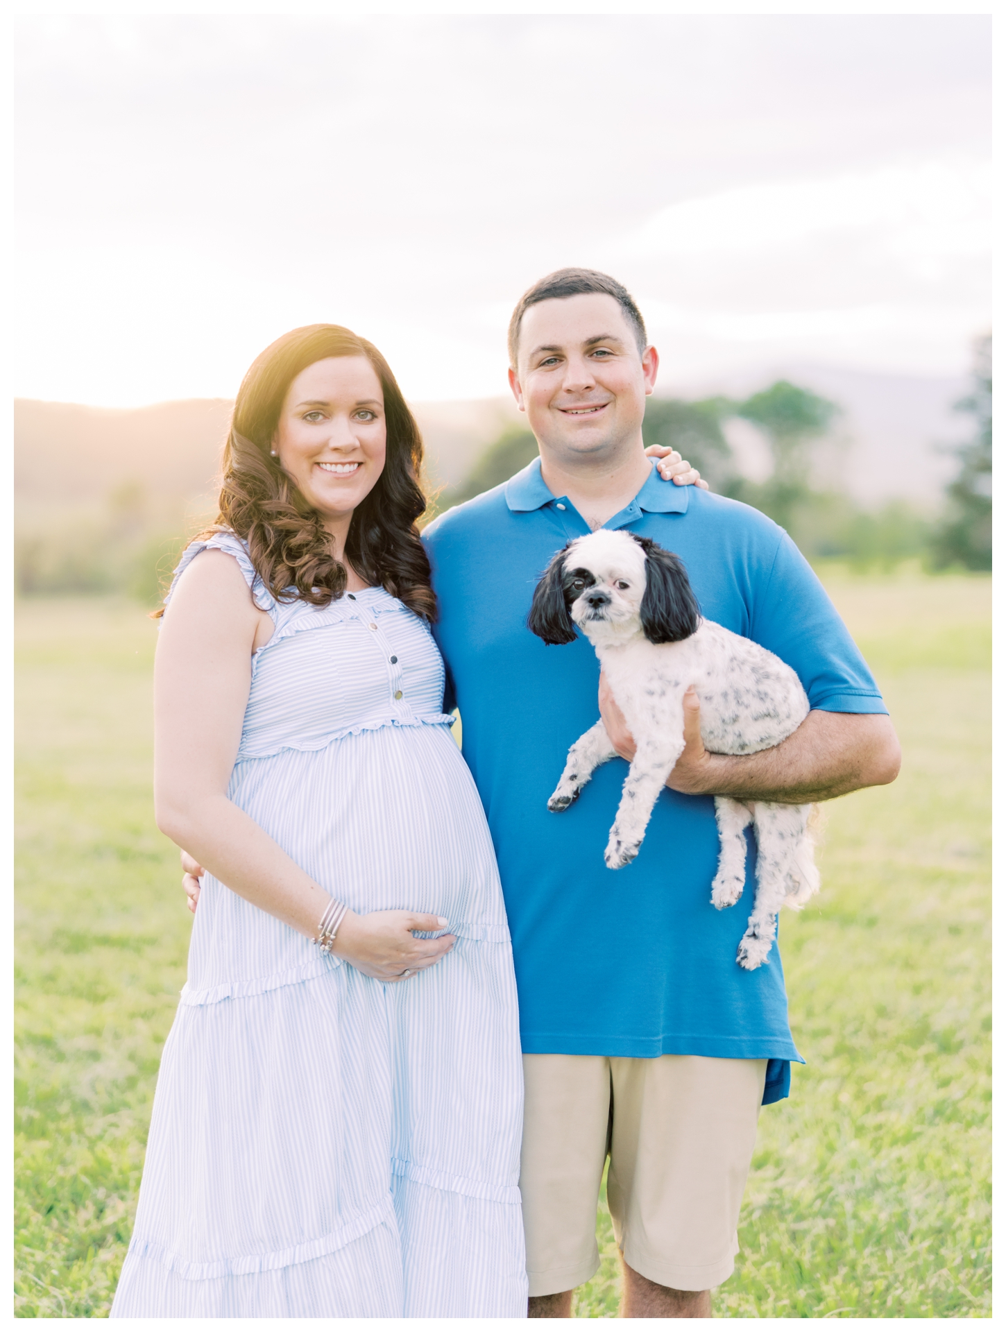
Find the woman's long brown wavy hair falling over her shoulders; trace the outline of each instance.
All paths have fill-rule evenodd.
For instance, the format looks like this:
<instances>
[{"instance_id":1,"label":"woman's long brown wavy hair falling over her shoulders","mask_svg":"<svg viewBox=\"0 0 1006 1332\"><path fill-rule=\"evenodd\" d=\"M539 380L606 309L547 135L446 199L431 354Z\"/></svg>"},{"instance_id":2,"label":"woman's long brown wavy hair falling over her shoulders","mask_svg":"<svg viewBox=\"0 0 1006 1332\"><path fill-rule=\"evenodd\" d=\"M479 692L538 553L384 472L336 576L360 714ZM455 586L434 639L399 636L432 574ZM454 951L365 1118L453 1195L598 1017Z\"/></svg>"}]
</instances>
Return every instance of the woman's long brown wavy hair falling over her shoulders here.
<instances>
[{"instance_id":1,"label":"woman's long brown wavy hair falling over her shoulders","mask_svg":"<svg viewBox=\"0 0 1006 1332\"><path fill-rule=\"evenodd\" d=\"M373 366L384 392L388 430L384 470L353 513L345 557L365 582L384 587L409 610L433 621L437 603L429 559L416 526L426 507L420 485L422 437L377 348L337 324L309 324L284 333L245 374L224 446L213 530L231 529L248 542L252 563L277 601L300 598L328 606L342 595L346 570L332 555L321 514L270 456L293 380L316 361L342 356L365 356Z\"/></svg>"}]
</instances>

